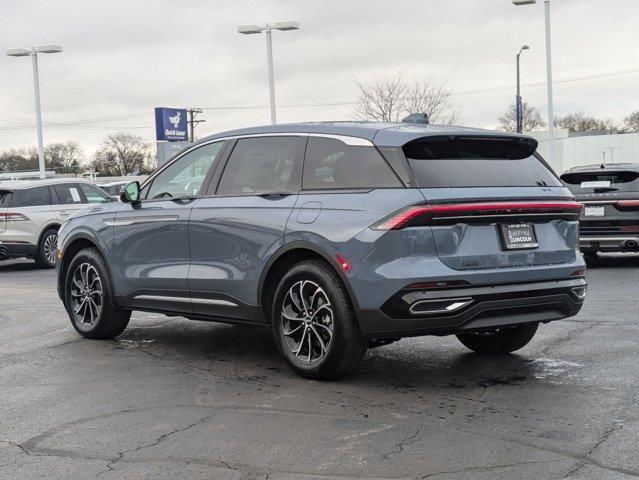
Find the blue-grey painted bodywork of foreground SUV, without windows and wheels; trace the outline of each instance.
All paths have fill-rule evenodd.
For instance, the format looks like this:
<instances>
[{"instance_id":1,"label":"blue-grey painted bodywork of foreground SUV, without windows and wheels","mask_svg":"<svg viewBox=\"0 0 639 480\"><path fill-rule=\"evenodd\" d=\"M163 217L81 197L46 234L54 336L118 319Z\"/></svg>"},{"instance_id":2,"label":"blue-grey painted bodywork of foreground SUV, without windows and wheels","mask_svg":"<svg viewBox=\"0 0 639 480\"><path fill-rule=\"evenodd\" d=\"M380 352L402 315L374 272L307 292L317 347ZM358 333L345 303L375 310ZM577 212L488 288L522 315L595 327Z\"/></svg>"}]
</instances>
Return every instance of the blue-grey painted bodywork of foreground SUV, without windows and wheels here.
<instances>
[{"instance_id":1,"label":"blue-grey painted bodywork of foreground SUV, without windows and wheels","mask_svg":"<svg viewBox=\"0 0 639 480\"><path fill-rule=\"evenodd\" d=\"M442 135L498 135L509 137L509 141L510 138L522 139L528 147L536 145L530 137L478 129L330 122L222 132L196 143L189 151L223 138L277 135L326 135L333 140L356 137L364 143L353 141L349 145L376 148L375 144L394 151L397 150L395 147L429 135L440 138ZM393 159L394 166L387 162L402 178L403 185L396 188L218 195L215 185L221 173L214 167L204 181L204 190L208 193L188 202L153 200L136 205L120 204L109 210L110 213L105 209L100 221L111 223L112 241L102 241L101 245L106 249L105 257L112 270L119 301L128 308L183 314L191 318L267 321L269 312L263 315L260 309L264 306L265 289L273 288L266 284L270 268L281 255L296 249L312 252L335 268L351 296L361 330L371 336L401 336L402 329L407 335L436 331L433 329L436 325L448 325L453 330L463 327L454 322L446 323L446 319L420 317L402 323L401 319L388 317L382 310L384 305L407 288L417 288L413 287L415 284L461 282L466 288L481 290L482 295L491 288L503 290L506 288L503 285L509 286L506 290L517 290L513 285L536 285L537 293L530 297L521 297L519 290L513 290L506 291L513 298L509 297L505 303L493 297L485 300L482 312L493 312L499 305L509 312L517 308L527 310L527 305L531 306L529 312L522 310L501 317L499 325L504 325L504 318L513 324L549 321L574 315L579 310L581 300L573 298L570 290L557 291L559 287L556 286L575 280L575 273L582 275L585 267L577 250L578 226L574 218L546 218L532 222L539 247L525 251L502 248L498 236L500 222L495 220L461 220L454 224L427 224L398 230L376 227L383 219L414 205L570 201L573 197L568 189L561 186L411 188L415 182L410 178L405 158L401 158L401 148L395 153L398 156ZM224 155L228 158L226 153ZM179 158L180 155L173 161ZM220 164L225 165L225 160L222 159ZM397 173L399 167L404 169L402 175ZM153 176L148 182L152 179ZM114 218L109 217L114 211ZM135 221L138 217L142 218L141 222ZM160 219L147 221L151 217ZM88 223L92 221L87 220ZM74 218L66 225L68 229L79 231L82 223ZM98 228L89 229L85 234L109 235ZM61 236L63 249L67 238L71 237L65 226ZM575 285L585 284L581 277L577 280ZM553 285L555 287L551 288ZM565 288L572 288L570 285ZM455 293L451 292L447 295ZM424 290L419 294L431 293ZM136 302L135 296L140 294L188 300ZM547 308L544 307L546 297L554 298L547 302ZM546 309L538 311L539 308ZM486 321L481 317L484 313L479 314L479 301L461 315L468 315L464 318L471 321L471 309L477 310L479 315L473 316L472 321L479 322L478 328L485 328ZM385 327L380 328L384 322Z\"/></svg>"}]
</instances>

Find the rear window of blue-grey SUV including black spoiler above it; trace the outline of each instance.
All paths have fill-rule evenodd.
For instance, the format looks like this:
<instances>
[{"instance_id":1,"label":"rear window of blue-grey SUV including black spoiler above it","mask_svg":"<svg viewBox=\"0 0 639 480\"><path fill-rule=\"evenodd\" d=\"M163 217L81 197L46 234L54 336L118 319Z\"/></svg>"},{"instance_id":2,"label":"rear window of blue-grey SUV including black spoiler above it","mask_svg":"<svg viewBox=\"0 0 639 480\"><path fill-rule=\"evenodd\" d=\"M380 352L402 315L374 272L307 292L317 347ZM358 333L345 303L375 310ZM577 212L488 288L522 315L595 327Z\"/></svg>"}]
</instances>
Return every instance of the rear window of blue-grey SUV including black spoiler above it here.
<instances>
[{"instance_id":1,"label":"rear window of blue-grey SUV including black spoiler above it","mask_svg":"<svg viewBox=\"0 0 639 480\"><path fill-rule=\"evenodd\" d=\"M533 152L533 144L512 139L429 139L404 146L422 188L562 186Z\"/></svg>"}]
</instances>

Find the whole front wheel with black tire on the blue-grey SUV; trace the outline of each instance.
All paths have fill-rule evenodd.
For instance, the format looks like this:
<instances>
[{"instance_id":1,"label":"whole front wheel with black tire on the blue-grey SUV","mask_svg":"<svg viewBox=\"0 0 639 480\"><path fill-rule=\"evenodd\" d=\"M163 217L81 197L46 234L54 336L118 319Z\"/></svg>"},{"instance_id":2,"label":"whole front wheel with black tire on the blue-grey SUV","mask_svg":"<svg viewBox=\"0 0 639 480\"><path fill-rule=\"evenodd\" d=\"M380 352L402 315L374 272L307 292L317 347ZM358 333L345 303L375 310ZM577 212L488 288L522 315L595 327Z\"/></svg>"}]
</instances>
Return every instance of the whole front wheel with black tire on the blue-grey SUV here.
<instances>
[{"instance_id":1,"label":"whole front wheel with black tire on the blue-grey SUV","mask_svg":"<svg viewBox=\"0 0 639 480\"><path fill-rule=\"evenodd\" d=\"M83 281L85 277L86 282ZM96 293L98 289L100 295ZM80 250L69 263L64 279L64 299L71 325L85 338L117 337L129 324L131 311L116 303L109 269L93 248ZM82 300L84 307L80 305ZM93 300L93 303L87 303L87 300Z\"/></svg>"}]
</instances>

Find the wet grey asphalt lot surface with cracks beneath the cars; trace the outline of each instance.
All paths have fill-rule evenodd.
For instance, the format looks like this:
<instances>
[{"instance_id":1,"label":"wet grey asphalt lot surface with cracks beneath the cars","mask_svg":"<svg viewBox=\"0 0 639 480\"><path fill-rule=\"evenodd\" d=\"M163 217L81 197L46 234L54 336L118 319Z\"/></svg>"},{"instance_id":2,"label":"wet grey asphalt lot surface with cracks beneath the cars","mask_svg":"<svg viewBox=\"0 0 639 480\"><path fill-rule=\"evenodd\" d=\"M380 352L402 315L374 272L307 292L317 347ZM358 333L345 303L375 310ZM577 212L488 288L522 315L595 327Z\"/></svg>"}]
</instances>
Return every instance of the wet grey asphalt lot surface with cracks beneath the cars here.
<instances>
[{"instance_id":1,"label":"wet grey asphalt lot surface with cracks beneath the cars","mask_svg":"<svg viewBox=\"0 0 639 480\"><path fill-rule=\"evenodd\" d=\"M634 478L639 257L588 280L516 354L404 339L318 382L264 328L134 313L82 339L53 271L0 262L0 478Z\"/></svg>"}]
</instances>

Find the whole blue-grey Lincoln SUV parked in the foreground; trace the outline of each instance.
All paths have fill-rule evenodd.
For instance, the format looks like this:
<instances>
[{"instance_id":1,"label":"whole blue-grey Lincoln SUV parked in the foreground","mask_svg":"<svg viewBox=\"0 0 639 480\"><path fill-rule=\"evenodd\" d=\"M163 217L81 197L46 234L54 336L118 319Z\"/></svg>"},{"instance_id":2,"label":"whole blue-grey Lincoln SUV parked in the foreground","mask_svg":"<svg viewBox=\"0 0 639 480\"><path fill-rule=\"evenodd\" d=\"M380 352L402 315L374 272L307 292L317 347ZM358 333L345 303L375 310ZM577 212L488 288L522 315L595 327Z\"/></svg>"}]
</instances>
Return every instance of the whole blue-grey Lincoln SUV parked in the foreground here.
<instances>
[{"instance_id":1,"label":"whole blue-grey Lincoln SUV parked in the foreground","mask_svg":"<svg viewBox=\"0 0 639 480\"><path fill-rule=\"evenodd\" d=\"M270 325L311 378L408 336L511 352L586 293L582 206L536 147L417 124L213 135L64 223L59 295L87 338L132 310Z\"/></svg>"}]
</instances>

